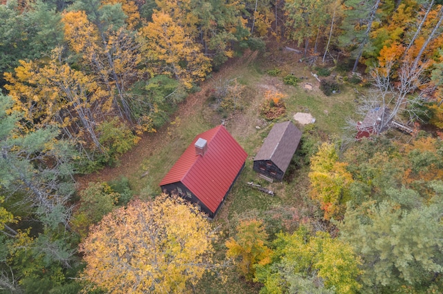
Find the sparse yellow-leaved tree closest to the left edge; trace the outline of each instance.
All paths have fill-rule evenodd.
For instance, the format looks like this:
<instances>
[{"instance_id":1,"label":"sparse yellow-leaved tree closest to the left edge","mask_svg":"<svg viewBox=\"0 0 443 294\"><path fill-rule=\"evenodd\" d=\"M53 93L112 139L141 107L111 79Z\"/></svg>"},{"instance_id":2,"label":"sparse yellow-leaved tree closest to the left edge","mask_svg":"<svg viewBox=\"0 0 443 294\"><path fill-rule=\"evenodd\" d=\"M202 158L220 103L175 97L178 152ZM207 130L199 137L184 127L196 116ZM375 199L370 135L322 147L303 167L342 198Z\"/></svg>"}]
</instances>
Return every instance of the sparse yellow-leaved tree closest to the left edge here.
<instances>
[{"instance_id":1,"label":"sparse yellow-leaved tree closest to the left edge","mask_svg":"<svg viewBox=\"0 0 443 294\"><path fill-rule=\"evenodd\" d=\"M93 77L62 59L62 48L51 53L45 61L20 61L15 72L5 75L14 109L24 112L30 128L54 125L80 150L102 151L95 126L97 117L103 115L101 104L106 93Z\"/></svg>"}]
</instances>

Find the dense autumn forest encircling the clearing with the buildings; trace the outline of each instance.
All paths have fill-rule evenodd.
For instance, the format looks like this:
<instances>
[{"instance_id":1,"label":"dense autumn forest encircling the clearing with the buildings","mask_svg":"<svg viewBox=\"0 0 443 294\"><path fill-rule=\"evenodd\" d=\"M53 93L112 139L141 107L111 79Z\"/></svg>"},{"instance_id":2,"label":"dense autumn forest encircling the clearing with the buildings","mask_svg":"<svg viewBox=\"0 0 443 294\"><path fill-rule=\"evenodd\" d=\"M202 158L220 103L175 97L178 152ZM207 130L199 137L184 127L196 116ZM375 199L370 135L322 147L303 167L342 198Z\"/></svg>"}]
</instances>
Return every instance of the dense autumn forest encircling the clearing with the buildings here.
<instances>
[{"instance_id":1,"label":"dense autumn forest encircling the clearing with the buildings","mask_svg":"<svg viewBox=\"0 0 443 294\"><path fill-rule=\"evenodd\" d=\"M441 0L0 0L0 15L2 293L244 293L235 275L250 293L443 292ZM286 46L330 75L325 95L360 101L347 133L303 129L307 215L208 222L125 179L75 185L176 123L226 63ZM242 87L208 96L241 112ZM374 108L386 119L356 140Z\"/></svg>"}]
</instances>

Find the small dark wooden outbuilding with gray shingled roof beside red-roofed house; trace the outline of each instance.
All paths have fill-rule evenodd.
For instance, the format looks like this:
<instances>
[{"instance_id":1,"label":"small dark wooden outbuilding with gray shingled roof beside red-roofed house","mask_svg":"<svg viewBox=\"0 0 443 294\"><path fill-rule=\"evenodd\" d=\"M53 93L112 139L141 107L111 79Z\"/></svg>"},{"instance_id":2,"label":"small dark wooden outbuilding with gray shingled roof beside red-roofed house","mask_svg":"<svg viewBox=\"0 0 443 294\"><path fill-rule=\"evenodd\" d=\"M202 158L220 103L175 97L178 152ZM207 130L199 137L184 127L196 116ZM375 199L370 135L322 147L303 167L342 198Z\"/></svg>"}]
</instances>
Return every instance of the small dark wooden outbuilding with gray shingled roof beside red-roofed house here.
<instances>
[{"instance_id":1,"label":"small dark wooden outbuilding with gray shingled roof beside red-roofed house","mask_svg":"<svg viewBox=\"0 0 443 294\"><path fill-rule=\"evenodd\" d=\"M253 169L266 177L281 181L301 137L302 132L291 121L275 124L254 157Z\"/></svg>"}]
</instances>

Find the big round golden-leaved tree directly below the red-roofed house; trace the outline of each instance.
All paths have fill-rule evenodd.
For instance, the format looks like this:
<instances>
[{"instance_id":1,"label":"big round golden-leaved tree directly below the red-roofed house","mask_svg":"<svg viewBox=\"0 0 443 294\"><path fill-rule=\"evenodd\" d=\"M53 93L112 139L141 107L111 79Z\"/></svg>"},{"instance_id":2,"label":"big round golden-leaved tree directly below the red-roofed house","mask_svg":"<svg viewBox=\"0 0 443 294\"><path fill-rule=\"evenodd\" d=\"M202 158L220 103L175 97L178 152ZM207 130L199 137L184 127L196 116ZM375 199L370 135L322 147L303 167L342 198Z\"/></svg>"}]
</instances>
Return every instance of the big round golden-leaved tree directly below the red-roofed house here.
<instances>
[{"instance_id":1,"label":"big round golden-leaved tree directly below the red-roofed house","mask_svg":"<svg viewBox=\"0 0 443 294\"><path fill-rule=\"evenodd\" d=\"M82 277L108 293L183 293L213 268L206 217L181 198L161 195L113 210L80 244Z\"/></svg>"}]
</instances>

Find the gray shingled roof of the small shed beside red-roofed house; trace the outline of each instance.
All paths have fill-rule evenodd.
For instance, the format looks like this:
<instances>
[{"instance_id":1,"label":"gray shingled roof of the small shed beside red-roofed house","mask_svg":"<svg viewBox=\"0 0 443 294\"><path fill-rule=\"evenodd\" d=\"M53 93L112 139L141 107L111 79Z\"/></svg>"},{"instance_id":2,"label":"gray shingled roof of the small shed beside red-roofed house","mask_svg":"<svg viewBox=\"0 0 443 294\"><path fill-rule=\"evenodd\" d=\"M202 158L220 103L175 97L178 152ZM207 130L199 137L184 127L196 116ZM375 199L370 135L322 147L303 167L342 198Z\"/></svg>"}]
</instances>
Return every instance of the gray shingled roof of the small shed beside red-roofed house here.
<instances>
[{"instance_id":1,"label":"gray shingled roof of the small shed beside red-roofed house","mask_svg":"<svg viewBox=\"0 0 443 294\"><path fill-rule=\"evenodd\" d=\"M302 132L291 121L275 124L264 139L254 161L271 160L284 173L291 163L301 137Z\"/></svg>"}]
</instances>

